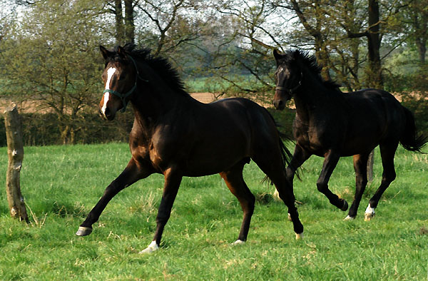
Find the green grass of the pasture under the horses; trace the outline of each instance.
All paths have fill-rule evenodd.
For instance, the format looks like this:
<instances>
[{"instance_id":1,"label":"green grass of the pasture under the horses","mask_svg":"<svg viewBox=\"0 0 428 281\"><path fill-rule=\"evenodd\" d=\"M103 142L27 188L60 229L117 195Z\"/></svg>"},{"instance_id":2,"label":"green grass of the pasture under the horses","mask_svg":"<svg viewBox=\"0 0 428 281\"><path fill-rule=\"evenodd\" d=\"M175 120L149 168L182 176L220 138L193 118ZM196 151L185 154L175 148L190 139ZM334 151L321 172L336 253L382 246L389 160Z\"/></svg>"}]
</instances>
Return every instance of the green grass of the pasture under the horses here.
<instances>
[{"instance_id":1,"label":"green grass of the pasture under the horses","mask_svg":"<svg viewBox=\"0 0 428 281\"><path fill-rule=\"evenodd\" d=\"M295 181L305 226L300 241L285 206L265 195L273 188L260 184L263 174L254 163L246 166L245 180L259 200L245 245L229 245L242 212L220 176L185 178L161 249L152 255L138 251L153 237L161 175L113 198L91 235L74 235L128 159L127 144L25 148L21 190L31 225L9 217L1 192L0 280L427 280L427 155L399 149L397 180L370 222L363 213L382 174L378 151L374 182L352 222L317 192L322 159L310 158L302 182ZM6 148L0 148L0 163L5 175ZM340 160L330 188L352 200L351 158Z\"/></svg>"}]
</instances>

